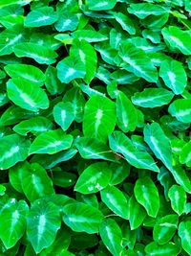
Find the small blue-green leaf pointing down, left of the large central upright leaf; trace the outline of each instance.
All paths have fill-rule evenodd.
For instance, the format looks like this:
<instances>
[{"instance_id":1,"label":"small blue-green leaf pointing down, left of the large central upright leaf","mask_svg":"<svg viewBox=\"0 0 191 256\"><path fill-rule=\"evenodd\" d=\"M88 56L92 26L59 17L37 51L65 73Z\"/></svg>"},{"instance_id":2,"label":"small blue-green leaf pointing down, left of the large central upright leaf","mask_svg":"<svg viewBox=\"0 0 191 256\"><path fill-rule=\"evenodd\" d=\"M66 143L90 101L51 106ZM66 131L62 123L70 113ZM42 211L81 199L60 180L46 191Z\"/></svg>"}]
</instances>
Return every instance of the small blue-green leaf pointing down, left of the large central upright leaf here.
<instances>
[{"instance_id":1,"label":"small blue-green leaf pointing down, left of the large central upright leaf","mask_svg":"<svg viewBox=\"0 0 191 256\"><path fill-rule=\"evenodd\" d=\"M54 105L53 118L63 130L67 130L74 121L74 106L63 102Z\"/></svg>"}]
</instances>

